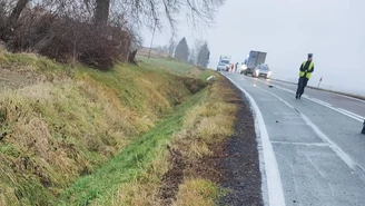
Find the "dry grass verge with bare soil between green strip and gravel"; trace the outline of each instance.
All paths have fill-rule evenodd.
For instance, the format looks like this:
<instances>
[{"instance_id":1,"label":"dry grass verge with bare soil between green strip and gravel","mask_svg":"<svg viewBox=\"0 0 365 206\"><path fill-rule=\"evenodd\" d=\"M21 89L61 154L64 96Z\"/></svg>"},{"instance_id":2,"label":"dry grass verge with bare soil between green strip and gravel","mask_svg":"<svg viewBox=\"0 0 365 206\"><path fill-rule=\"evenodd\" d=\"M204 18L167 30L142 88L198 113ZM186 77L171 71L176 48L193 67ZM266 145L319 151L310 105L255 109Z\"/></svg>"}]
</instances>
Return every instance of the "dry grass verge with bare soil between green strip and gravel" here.
<instances>
[{"instance_id":1,"label":"dry grass verge with bare soil between green strip and gravel","mask_svg":"<svg viewBox=\"0 0 365 206\"><path fill-rule=\"evenodd\" d=\"M160 147L140 176L120 185L106 197L108 202L93 205L216 205L226 192L210 175L214 166L203 166L207 164L203 159L214 155L213 145L233 134L236 106L229 98L233 91L223 86L216 81L203 91L196 105L182 114L180 128L170 134L169 147Z\"/></svg>"}]
</instances>

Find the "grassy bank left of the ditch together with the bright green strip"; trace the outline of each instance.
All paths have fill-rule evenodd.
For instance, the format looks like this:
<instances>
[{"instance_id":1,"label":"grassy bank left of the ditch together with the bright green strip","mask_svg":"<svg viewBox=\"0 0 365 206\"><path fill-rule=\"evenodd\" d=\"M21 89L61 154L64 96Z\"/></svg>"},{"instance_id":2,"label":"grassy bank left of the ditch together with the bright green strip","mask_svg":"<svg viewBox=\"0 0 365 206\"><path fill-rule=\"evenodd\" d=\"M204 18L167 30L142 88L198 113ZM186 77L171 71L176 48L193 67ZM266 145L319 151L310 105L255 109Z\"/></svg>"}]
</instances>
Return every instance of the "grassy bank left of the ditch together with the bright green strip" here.
<instances>
[{"instance_id":1,"label":"grassy bank left of the ditch together with the bright green strip","mask_svg":"<svg viewBox=\"0 0 365 206\"><path fill-rule=\"evenodd\" d=\"M0 135L8 133L0 146L0 168L7 174L0 177L0 205L53 205L61 194L60 204L67 205L100 194L107 198L158 158L189 104L199 99L188 100L189 87L203 88L182 77L190 65L169 60L118 63L103 72L29 53L0 57L0 67L42 79L0 94Z\"/></svg>"}]
</instances>

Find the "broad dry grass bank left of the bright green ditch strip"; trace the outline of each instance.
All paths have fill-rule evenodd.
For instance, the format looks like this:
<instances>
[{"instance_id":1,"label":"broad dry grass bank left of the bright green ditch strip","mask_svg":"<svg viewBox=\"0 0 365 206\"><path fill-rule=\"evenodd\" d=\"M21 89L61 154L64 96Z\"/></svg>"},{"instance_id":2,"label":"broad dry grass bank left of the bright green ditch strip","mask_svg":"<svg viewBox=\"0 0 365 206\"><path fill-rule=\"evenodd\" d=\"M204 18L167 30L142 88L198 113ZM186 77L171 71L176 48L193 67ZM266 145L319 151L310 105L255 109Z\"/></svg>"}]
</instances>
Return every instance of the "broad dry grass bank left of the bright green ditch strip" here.
<instances>
[{"instance_id":1,"label":"broad dry grass bank left of the bright green ditch strip","mask_svg":"<svg viewBox=\"0 0 365 206\"><path fill-rule=\"evenodd\" d=\"M45 78L0 95L0 204L49 205L149 131L190 95L184 78L154 68L117 66L72 72L33 55L0 50L1 67ZM7 193L2 193L7 192Z\"/></svg>"}]
</instances>

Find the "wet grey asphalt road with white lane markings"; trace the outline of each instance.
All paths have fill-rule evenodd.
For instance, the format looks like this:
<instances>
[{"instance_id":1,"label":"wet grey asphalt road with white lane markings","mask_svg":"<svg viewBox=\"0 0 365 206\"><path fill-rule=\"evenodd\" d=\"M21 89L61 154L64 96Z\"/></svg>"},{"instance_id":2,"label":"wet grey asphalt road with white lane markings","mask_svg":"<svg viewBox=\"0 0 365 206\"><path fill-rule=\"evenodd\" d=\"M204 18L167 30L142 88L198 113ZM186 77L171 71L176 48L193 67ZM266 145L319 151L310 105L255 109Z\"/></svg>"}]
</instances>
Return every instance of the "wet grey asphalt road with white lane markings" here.
<instances>
[{"instance_id":1,"label":"wet grey asphalt road with white lane markings","mask_svg":"<svg viewBox=\"0 0 365 206\"><path fill-rule=\"evenodd\" d=\"M266 205L365 205L365 101L224 73L256 117ZM269 87L272 86L272 87Z\"/></svg>"}]
</instances>

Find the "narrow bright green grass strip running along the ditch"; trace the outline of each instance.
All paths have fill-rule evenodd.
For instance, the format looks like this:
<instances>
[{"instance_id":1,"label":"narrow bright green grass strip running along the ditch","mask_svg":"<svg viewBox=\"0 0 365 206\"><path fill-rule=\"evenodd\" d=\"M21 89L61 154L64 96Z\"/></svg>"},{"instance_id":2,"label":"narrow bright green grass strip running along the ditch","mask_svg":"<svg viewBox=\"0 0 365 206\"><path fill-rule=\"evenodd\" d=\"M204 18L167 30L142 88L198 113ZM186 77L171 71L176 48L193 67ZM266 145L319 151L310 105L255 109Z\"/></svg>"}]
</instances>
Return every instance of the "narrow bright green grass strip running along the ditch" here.
<instances>
[{"instance_id":1,"label":"narrow bright green grass strip running along the ditch","mask_svg":"<svg viewBox=\"0 0 365 206\"><path fill-rule=\"evenodd\" d=\"M76 182L61 195L60 205L88 205L97 198L108 199L106 195L116 193L122 184L136 179L148 168L156 155L166 148L174 133L181 128L186 111L206 94L205 90L191 97L174 115L127 146L96 173Z\"/></svg>"}]
</instances>

